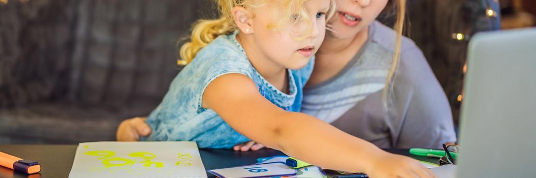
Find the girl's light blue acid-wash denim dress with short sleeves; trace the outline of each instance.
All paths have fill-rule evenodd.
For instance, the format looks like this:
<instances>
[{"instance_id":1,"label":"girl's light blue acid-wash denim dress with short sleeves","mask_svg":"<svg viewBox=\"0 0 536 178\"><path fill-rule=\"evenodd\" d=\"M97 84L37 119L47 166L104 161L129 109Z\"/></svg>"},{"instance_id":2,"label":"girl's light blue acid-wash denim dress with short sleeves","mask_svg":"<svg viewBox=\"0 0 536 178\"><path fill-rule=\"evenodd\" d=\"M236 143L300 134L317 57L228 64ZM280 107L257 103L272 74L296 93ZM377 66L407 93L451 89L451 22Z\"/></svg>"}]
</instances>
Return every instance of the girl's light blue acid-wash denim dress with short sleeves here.
<instances>
[{"instance_id":1,"label":"girl's light blue acid-wash denim dress with short sleeves","mask_svg":"<svg viewBox=\"0 0 536 178\"><path fill-rule=\"evenodd\" d=\"M149 115L147 123L153 131L142 140L196 141L199 148L232 148L235 144L250 141L213 110L202 107L205 88L218 76L229 73L248 76L255 82L260 94L282 109L300 111L302 89L311 75L314 58L307 66L288 71L291 74L288 75L288 95L277 90L255 70L236 41L236 34L218 36L182 69L160 105Z\"/></svg>"}]
</instances>

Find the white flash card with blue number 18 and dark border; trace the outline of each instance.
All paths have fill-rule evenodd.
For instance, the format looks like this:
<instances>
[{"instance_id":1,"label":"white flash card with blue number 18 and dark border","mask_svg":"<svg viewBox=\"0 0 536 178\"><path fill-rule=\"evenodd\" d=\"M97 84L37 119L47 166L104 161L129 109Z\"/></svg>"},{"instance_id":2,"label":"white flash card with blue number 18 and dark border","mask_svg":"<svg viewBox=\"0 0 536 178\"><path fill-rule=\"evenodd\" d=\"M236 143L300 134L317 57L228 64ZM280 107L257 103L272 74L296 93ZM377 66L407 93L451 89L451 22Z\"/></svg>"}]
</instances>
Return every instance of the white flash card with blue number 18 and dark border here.
<instances>
[{"instance_id":1,"label":"white flash card with blue number 18 and dark border","mask_svg":"<svg viewBox=\"0 0 536 178\"><path fill-rule=\"evenodd\" d=\"M225 177L279 177L296 175L297 171L282 162L231 167L224 169L212 169L207 171L220 178Z\"/></svg>"}]
</instances>

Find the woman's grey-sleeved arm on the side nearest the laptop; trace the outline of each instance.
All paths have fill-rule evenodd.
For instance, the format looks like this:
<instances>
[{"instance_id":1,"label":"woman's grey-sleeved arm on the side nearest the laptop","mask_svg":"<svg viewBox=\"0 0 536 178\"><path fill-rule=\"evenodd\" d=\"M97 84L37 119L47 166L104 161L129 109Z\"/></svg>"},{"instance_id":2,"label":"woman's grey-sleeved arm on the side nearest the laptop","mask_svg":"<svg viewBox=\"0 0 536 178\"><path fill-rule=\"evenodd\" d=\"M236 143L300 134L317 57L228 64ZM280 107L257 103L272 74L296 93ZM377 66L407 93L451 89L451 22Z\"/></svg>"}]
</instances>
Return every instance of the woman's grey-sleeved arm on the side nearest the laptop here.
<instances>
[{"instance_id":1,"label":"woman's grey-sleeved arm on the side nearest the laptop","mask_svg":"<svg viewBox=\"0 0 536 178\"><path fill-rule=\"evenodd\" d=\"M403 52L394 83L394 107L403 121L394 146L442 148L456 142L448 99L418 47Z\"/></svg>"}]
</instances>

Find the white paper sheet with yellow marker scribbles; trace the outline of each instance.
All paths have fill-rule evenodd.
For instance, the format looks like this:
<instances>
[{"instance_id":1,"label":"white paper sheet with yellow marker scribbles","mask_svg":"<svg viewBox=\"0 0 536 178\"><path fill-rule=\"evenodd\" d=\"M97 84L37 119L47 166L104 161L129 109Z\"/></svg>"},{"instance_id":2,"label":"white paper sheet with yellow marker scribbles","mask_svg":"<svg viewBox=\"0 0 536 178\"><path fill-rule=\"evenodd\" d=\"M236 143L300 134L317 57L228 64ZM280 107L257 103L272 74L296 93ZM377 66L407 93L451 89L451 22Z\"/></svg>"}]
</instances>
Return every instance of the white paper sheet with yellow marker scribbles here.
<instances>
[{"instance_id":1,"label":"white paper sheet with yellow marker scribbles","mask_svg":"<svg viewBox=\"0 0 536 178\"><path fill-rule=\"evenodd\" d=\"M69 177L207 177L195 142L88 142Z\"/></svg>"}]
</instances>

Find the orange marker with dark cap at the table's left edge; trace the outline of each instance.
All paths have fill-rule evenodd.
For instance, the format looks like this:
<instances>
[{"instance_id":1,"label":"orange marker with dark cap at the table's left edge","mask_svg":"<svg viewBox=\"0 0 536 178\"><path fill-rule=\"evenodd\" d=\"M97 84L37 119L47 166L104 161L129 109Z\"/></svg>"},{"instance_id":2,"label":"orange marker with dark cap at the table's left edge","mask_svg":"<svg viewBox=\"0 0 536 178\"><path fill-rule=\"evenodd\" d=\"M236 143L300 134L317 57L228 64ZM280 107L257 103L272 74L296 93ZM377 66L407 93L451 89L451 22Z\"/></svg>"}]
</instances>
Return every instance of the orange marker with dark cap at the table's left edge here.
<instances>
[{"instance_id":1,"label":"orange marker with dark cap at the table's left edge","mask_svg":"<svg viewBox=\"0 0 536 178\"><path fill-rule=\"evenodd\" d=\"M39 162L17 158L3 152L0 152L0 165L26 174L35 174L41 171Z\"/></svg>"}]
</instances>

